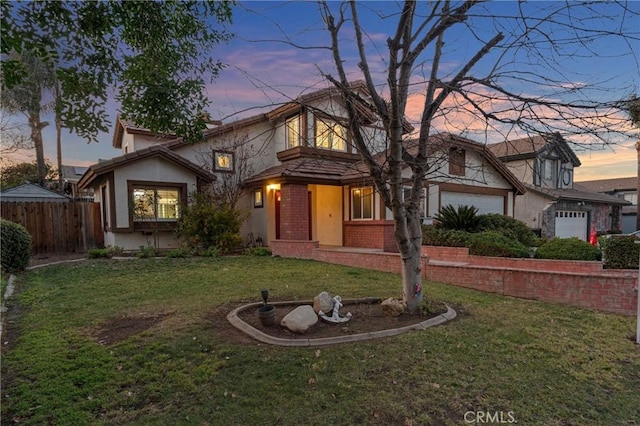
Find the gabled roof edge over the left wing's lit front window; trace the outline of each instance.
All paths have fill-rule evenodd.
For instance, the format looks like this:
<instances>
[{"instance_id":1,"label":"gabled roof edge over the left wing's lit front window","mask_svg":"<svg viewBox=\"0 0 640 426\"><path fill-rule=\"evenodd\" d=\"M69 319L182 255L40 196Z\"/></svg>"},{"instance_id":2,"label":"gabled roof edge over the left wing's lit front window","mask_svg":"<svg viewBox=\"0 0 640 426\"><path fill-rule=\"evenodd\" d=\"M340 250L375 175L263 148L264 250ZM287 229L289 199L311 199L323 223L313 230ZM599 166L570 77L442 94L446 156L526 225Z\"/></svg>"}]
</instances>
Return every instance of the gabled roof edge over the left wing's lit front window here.
<instances>
[{"instance_id":1,"label":"gabled roof edge over the left wing's lit front window","mask_svg":"<svg viewBox=\"0 0 640 426\"><path fill-rule=\"evenodd\" d=\"M105 173L109 173L119 167L153 157L160 157L183 167L206 182L213 182L216 178L213 174L209 173L202 167L170 151L163 145L151 145L150 147L133 151L119 157L114 157L110 160L102 161L90 166L82 178L80 178L80 181L78 181L78 187L81 189L88 188L92 182L103 176Z\"/></svg>"}]
</instances>

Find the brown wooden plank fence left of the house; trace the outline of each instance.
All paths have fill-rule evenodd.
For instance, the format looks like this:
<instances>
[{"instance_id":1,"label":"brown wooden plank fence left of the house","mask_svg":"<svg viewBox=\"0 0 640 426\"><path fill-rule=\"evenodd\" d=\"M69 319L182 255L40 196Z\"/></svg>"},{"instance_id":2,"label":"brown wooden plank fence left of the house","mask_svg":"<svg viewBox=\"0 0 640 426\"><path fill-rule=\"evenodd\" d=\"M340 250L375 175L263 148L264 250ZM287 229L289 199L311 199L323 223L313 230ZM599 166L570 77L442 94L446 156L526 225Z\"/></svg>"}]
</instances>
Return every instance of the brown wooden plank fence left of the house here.
<instances>
[{"instance_id":1,"label":"brown wooden plank fence left of the house","mask_svg":"<svg viewBox=\"0 0 640 426\"><path fill-rule=\"evenodd\" d=\"M3 219L24 226L34 254L86 253L104 246L99 203L0 203Z\"/></svg>"}]
</instances>

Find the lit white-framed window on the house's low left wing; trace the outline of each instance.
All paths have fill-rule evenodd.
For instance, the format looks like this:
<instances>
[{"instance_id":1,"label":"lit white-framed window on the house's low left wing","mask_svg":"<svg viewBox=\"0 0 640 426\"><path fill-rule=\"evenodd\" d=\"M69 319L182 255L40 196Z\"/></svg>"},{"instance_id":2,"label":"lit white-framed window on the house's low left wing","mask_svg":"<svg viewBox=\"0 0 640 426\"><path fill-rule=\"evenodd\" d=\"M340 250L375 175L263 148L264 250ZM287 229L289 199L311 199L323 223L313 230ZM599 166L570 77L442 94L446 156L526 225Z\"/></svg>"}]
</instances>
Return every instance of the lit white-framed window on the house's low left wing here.
<instances>
[{"instance_id":1,"label":"lit white-framed window on the house's low left wing","mask_svg":"<svg viewBox=\"0 0 640 426\"><path fill-rule=\"evenodd\" d=\"M180 189L134 185L134 222L175 222L180 217Z\"/></svg>"}]
</instances>

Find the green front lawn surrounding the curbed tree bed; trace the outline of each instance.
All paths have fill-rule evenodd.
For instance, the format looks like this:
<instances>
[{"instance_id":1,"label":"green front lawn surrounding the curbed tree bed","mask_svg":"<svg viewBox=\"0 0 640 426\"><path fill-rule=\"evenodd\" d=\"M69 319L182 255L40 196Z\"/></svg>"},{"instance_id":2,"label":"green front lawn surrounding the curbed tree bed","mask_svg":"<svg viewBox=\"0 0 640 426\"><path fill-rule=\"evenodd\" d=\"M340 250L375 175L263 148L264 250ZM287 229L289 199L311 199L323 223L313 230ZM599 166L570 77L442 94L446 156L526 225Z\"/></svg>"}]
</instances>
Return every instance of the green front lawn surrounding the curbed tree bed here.
<instances>
[{"instance_id":1,"label":"green front lawn surrounding the curbed tree bed","mask_svg":"<svg viewBox=\"0 0 640 426\"><path fill-rule=\"evenodd\" d=\"M630 317L425 283L462 308L458 319L287 349L230 342L211 312L258 301L261 288L279 299L398 296L399 276L281 258L102 260L34 270L16 287L2 424L457 425L487 412L520 425L640 423ZM167 315L113 345L90 337L154 314Z\"/></svg>"}]
</instances>

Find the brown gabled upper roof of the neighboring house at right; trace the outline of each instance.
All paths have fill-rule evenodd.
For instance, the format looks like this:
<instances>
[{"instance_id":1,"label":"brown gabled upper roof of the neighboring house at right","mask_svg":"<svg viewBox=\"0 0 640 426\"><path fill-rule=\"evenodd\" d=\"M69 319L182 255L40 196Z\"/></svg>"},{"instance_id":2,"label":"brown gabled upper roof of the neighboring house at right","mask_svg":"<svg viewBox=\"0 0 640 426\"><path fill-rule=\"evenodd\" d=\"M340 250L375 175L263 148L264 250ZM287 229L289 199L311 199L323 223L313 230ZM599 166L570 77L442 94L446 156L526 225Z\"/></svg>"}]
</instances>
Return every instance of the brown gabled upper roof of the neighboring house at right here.
<instances>
[{"instance_id":1,"label":"brown gabled upper roof of the neighboring house at right","mask_svg":"<svg viewBox=\"0 0 640 426\"><path fill-rule=\"evenodd\" d=\"M562 160L580 166L580 159L559 133L547 133L487 145L493 154L504 162L535 158L546 150L555 148Z\"/></svg>"}]
</instances>

